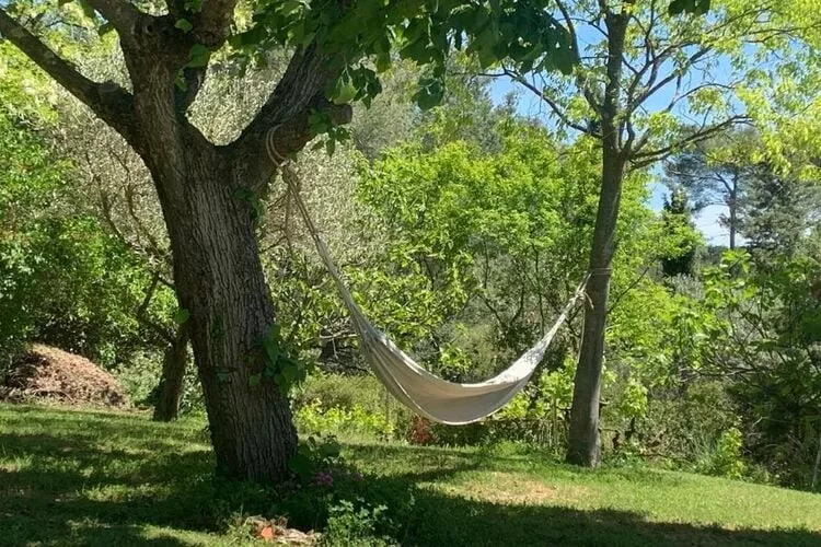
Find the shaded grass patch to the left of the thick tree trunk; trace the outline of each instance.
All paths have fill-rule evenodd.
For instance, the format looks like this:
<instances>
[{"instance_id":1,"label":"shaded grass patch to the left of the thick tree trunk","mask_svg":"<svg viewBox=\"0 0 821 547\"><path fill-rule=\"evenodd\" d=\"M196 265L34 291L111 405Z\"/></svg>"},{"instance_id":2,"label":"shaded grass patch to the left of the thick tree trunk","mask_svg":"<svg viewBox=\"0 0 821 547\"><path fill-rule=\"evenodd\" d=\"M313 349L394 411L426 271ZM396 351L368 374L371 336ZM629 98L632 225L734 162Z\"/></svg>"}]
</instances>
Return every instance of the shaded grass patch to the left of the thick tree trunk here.
<instances>
[{"instance_id":1,"label":"shaded grass patch to the left of the thick tree trunk","mask_svg":"<svg viewBox=\"0 0 821 547\"><path fill-rule=\"evenodd\" d=\"M208 451L146 455L84 439L3 434L0 545L187 545L147 525L208 532L218 486ZM19 463L15 463L15 459Z\"/></svg>"}]
</instances>

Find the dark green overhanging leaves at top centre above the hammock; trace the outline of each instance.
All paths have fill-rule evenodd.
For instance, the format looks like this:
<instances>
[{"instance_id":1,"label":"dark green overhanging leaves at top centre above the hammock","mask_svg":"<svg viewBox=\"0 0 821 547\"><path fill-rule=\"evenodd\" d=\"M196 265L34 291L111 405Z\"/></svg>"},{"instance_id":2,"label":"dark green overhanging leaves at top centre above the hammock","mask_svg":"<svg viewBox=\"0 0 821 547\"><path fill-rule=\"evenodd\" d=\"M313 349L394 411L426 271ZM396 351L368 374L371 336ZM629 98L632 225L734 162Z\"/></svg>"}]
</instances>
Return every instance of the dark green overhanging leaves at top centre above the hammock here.
<instances>
[{"instance_id":1,"label":"dark green overhanging leaves at top centre above the hammock","mask_svg":"<svg viewBox=\"0 0 821 547\"><path fill-rule=\"evenodd\" d=\"M262 2L251 27L231 38L246 58L271 46L344 54L345 65L328 90L329 98L369 104L382 86L378 71L391 67L393 51L402 59L429 66L414 98L424 109L444 93L446 63L452 51L475 55L483 67L501 60L523 72L560 70L577 60L576 44L539 0L527 2Z\"/></svg>"}]
</instances>

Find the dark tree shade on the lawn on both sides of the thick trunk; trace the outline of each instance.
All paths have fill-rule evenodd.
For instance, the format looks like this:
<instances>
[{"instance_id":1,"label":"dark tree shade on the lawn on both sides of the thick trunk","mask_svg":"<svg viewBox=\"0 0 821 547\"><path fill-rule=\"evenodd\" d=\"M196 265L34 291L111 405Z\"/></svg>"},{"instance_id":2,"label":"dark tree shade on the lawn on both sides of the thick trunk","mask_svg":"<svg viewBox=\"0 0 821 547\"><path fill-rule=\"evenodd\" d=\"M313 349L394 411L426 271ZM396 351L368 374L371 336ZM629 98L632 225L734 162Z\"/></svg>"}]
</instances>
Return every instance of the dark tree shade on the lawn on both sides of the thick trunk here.
<instances>
[{"instance_id":1,"label":"dark tree shade on the lawn on both sides of the thick trunk","mask_svg":"<svg viewBox=\"0 0 821 547\"><path fill-rule=\"evenodd\" d=\"M147 456L127 446L101 451L72 435L1 431L0 447L0 454L22 458L15 465L7 457L11 463L0 467L0 545L188 545L162 531L147 538L146 527L217 532L218 517L227 512L264 514L270 507L262 488L213 479L206 450ZM729 531L651 523L634 512L465 499L417 485L475 469L481 454L379 446L360 455L389 453L419 469L368 478L374 489L413 494L403 545L821 545L821 536L807 531ZM431 465L417 465L425 461Z\"/></svg>"}]
</instances>

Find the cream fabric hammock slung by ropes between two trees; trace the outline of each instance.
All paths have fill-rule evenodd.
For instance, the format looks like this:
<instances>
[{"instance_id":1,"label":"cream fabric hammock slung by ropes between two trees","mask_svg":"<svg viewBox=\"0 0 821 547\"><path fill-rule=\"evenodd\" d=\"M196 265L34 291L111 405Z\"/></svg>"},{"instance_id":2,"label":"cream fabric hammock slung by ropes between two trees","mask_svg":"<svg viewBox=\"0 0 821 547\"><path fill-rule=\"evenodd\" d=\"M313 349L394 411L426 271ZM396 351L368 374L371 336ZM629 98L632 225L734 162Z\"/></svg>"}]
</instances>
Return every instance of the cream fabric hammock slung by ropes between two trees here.
<instances>
[{"instance_id":1,"label":"cream fabric hammock slung by ropes between two trees","mask_svg":"<svg viewBox=\"0 0 821 547\"><path fill-rule=\"evenodd\" d=\"M339 295L350 313L365 359L391 395L426 418L440 423L459 426L490 416L524 387L542 361L556 331L567 318L568 313L583 296L587 278L562 310L550 330L508 369L490 380L475 384L448 382L414 362L384 333L368 322L354 301L354 296L343 281L342 274L331 257L325 242L320 237L316 226L308 214L308 208L299 194L299 181L290 162L281 158L270 143L268 152L280 167L282 178L293 195L297 208L316 245L320 258L331 274Z\"/></svg>"}]
</instances>

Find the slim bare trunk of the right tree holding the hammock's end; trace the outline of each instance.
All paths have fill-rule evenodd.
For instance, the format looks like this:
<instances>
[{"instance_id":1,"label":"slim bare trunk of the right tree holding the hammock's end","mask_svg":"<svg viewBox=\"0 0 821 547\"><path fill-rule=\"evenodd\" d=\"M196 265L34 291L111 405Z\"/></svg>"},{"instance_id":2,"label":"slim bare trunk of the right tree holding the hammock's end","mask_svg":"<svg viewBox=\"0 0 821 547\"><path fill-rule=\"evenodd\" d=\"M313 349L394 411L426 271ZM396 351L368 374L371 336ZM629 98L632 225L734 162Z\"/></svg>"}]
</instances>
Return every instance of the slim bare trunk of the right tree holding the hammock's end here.
<instances>
[{"instance_id":1,"label":"slim bare trunk of the right tree holding the hammock's end","mask_svg":"<svg viewBox=\"0 0 821 547\"><path fill-rule=\"evenodd\" d=\"M590 251L591 276L587 284L589 302L585 309L581 351L574 380L566 456L568 463L586 467L595 467L601 461L599 397L604 361L604 327L610 295L610 268L615 252L616 222L625 173L617 114L627 21L628 15L623 13L609 12L605 18L609 42L608 83L601 112L602 185Z\"/></svg>"}]
</instances>

